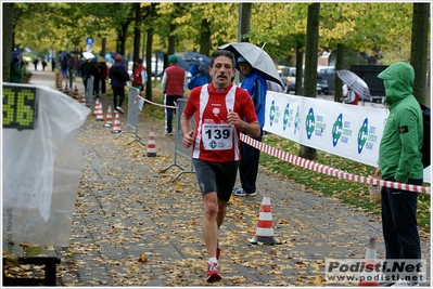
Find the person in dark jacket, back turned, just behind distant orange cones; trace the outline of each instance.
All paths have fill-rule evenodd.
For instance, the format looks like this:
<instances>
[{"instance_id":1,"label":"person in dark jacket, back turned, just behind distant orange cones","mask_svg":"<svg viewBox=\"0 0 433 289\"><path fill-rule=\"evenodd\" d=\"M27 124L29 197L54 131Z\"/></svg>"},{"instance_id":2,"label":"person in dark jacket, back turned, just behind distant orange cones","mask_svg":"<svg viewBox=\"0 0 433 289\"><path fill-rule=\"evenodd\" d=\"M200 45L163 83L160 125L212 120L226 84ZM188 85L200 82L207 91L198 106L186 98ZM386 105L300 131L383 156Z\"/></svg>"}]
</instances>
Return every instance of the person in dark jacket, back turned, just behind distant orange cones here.
<instances>
[{"instance_id":1,"label":"person in dark jacket, back turned, just behind distant orange cones","mask_svg":"<svg viewBox=\"0 0 433 289\"><path fill-rule=\"evenodd\" d=\"M114 57L114 64L112 65L112 67L110 67L109 77L112 80L111 86L113 89L113 107L120 114L124 114L122 104L125 100L125 86L127 81L127 79L124 77L125 74L128 75L127 67L122 63L122 55L117 54Z\"/></svg>"}]
</instances>

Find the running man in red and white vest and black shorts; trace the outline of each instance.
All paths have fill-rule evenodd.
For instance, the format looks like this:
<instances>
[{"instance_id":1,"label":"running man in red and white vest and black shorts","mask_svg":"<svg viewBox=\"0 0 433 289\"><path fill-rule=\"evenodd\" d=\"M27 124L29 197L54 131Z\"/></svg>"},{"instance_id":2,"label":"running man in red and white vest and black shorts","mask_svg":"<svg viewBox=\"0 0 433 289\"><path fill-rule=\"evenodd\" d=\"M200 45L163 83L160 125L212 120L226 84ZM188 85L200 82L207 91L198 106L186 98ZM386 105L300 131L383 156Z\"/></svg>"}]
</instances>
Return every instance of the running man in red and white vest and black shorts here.
<instances>
[{"instance_id":1,"label":"running man in red and white vest and black shorts","mask_svg":"<svg viewBox=\"0 0 433 289\"><path fill-rule=\"evenodd\" d=\"M260 134L251 96L232 84L234 73L234 55L226 50L215 51L209 67L212 83L191 91L180 118L182 145L192 146L192 161L203 197L202 234L208 257L208 283L221 279L218 231L237 179L240 132L243 130L254 137ZM195 128L191 130L193 116ZM221 132L225 137L219 137Z\"/></svg>"}]
</instances>

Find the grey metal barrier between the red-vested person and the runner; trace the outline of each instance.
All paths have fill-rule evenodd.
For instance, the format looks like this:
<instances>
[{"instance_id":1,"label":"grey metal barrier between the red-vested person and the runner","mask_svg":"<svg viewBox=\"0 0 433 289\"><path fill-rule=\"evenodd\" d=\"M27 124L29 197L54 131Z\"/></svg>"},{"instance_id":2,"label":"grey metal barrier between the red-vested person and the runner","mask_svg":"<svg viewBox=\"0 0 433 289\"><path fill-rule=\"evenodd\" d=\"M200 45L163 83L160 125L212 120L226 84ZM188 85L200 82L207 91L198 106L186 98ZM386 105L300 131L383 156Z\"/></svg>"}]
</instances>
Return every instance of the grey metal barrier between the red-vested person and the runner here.
<instances>
[{"instance_id":1,"label":"grey metal barrier between the red-vested person and the runner","mask_svg":"<svg viewBox=\"0 0 433 289\"><path fill-rule=\"evenodd\" d=\"M179 169L182 170L181 172L176 174L175 179L173 179L173 182L176 181L183 173L195 173L194 166L192 163L192 158L191 158L191 149L192 148L191 147L190 148L186 148L182 145L183 134L182 134L182 131L180 129L180 116L182 115L186 105L187 105L187 100L184 100L184 98L178 98L177 100L176 135L175 135L175 159L174 159L174 162L170 166L168 166L167 168L162 170L163 172L165 172L166 170L168 170L171 167L178 167ZM194 128L195 128L195 120L194 120L194 118L192 118L191 119L191 129L194 129ZM181 157L183 157L183 158L186 158L186 159L191 161L189 170L184 169L182 166L179 165L178 159L177 159L178 156L181 156Z\"/></svg>"}]
</instances>

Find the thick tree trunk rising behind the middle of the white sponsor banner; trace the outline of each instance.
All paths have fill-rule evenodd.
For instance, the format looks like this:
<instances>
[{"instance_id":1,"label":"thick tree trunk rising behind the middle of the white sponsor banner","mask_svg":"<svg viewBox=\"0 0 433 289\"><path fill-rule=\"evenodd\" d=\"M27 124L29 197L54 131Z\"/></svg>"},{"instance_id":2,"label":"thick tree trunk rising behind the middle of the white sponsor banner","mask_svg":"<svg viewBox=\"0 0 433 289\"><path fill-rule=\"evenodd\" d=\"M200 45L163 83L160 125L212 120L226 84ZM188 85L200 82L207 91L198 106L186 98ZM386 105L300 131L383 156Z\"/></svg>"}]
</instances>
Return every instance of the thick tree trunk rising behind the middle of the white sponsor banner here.
<instances>
[{"instance_id":1,"label":"thick tree trunk rising behind the middle of the white sponsor banner","mask_svg":"<svg viewBox=\"0 0 433 289\"><path fill-rule=\"evenodd\" d=\"M307 19L307 38L305 44L305 74L304 74L304 95L307 97L316 97L317 95L317 55L319 52L319 15L320 3L308 5ZM313 120L309 126L315 126ZM308 129L308 128L307 128ZM317 158L315 148L301 145L300 157L309 160Z\"/></svg>"}]
</instances>

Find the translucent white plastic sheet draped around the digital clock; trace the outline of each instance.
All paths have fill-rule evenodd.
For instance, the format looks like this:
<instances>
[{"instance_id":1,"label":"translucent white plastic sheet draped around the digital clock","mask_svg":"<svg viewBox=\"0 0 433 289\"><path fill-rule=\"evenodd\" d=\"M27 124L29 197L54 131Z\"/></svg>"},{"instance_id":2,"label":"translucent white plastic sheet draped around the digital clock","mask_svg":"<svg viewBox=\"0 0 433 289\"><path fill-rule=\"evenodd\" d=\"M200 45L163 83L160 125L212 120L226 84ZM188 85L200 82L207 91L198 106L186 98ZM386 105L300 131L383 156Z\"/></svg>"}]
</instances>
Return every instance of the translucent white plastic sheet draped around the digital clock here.
<instances>
[{"instance_id":1,"label":"translucent white plastic sheet draped around the digital clock","mask_svg":"<svg viewBox=\"0 0 433 289\"><path fill-rule=\"evenodd\" d=\"M90 109L36 89L36 128L2 130L3 240L67 246L81 175L79 128Z\"/></svg>"}]
</instances>

